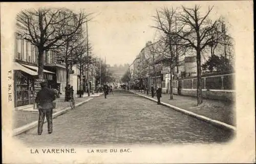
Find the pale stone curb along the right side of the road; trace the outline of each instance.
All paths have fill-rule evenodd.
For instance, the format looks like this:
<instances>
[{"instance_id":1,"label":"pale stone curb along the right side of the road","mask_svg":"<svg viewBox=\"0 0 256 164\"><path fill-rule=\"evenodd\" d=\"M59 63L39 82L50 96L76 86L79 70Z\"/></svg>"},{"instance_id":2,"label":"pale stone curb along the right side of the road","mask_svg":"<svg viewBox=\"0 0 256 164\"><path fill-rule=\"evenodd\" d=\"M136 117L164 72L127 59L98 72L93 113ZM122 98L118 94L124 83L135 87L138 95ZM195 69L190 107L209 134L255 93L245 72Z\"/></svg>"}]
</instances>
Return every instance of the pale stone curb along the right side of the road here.
<instances>
[{"instance_id":1,"label":"pale stone curb along the right side of the road","mask_svg":"<svg viewBox=\"0 0 256 164\"><path fill-rule=\"evenodd\" d=\"M144 95L140 95L139 93L136 93L136 92L133 92L133 91L130 91L136 95L139 95L141 97L144 97L148 100L151 100L151 101L154 101L154 102L157 102L157 100L153 99L153 98L150 98L150 97L147 97L147 96L144 96ZM187 114L189 116L192 116L196 119L199 119L199 120L202 120L204 122L207 122L207 123L210 123L212 125L215 125L215 126L218 126L218 127L221 127L221 128L225 128L225 129L228 129L228 130L233 130L233 131L236 131L237 128L232 126L232 125L229 125L229 124L226 124L226 123L223 123L223 122L220 122L220 121L217 121L217 120L213 120L213 119L210 119L210 118L207 118L206 116L203 116L203 115L199 115L199 114L196 114L194 112L191 112L191 111L188 111L188 110L185 110L185 109L182 109L182 108L179 108L179 107L176 107L176 106L173 106L173 105L170 105L170 104L167 104L167 103L163 103L161 102L161 105L163 106L166 106L166 107L169 107L169 108L172 108L172 109L175 109L179 112L182 112L184 114Z\"/></svg>"}]
</instances>

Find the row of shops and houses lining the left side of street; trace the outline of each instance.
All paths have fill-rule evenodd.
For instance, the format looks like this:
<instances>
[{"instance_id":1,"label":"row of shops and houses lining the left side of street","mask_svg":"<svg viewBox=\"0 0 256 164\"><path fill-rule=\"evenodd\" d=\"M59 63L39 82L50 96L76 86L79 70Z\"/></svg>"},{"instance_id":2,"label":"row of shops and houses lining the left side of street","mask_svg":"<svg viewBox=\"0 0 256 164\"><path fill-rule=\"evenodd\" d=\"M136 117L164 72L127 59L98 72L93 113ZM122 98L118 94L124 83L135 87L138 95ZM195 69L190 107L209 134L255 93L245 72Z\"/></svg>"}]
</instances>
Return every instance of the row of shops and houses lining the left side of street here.
<instances>
[{"instance_id":1,"label":"row of shops and houses lining the left side of street","mask_svg":"<svg viewBox=\"0 0 256 164\"><path fill-rule=\"evenodd\" d=\"M35 90L40 86L36 84L36 76L38 75L38 50L36 46L26 41L20 35L15 33L14 45L14 106L24 106L34 103ZM58 89L62 96L65 95L66 87L66 66L57 60L53 51L44 52L44 79L48 82L51 89ZM74 94L77 90L88 90L87 82L89 79L90 90L95 89L95 78L90 73L87 77L83 73L83 77L79 77L79 69L77 65L72 65L69 75L69 84L73 86ZM80 80L82 87L80 88Z\"/></svg>"}]
</instances>

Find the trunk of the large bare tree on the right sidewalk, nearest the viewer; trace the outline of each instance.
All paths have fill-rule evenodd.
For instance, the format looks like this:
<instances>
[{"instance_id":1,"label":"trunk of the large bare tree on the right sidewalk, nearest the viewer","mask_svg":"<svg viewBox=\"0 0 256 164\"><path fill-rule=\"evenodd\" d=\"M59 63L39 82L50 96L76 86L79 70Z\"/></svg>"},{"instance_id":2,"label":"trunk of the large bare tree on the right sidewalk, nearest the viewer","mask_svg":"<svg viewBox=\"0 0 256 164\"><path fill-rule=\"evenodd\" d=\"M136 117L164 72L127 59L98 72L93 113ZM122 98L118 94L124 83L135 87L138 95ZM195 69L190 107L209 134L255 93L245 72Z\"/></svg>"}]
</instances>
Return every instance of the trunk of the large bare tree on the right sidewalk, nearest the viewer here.
<instances>
[{"instance_id":1,"label":"trunk of the large bare tree on the right sidewalk, nearest the viewer","mask_svg":"<svg viewBox=\"0 0 256 164\"><path fill-rule=\"evenodd\" d=\"M201 51L197 49L197 105L202 103Z\"/></svg>"}]
</instances>

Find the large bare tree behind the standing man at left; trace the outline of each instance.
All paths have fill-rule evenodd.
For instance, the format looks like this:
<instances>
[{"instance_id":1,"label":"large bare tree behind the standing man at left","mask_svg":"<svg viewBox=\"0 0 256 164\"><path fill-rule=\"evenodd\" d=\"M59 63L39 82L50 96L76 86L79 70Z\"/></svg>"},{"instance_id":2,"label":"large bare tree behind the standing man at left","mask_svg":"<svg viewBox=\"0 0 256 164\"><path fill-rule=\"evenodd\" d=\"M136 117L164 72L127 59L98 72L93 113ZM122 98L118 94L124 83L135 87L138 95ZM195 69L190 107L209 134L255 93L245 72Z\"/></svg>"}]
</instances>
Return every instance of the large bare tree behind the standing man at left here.
<instances>
[{"instance_id":1,"label":"large bare tree behind the standing man at left","mask_svg":"<svg viewBox=\"0 0 256 164\"><path fill-rule=\"evenodd\" d=\"M88 21L90 14L75 13L65 8L25 9L16 17L17 32L38 49L38 78L44 78L44 52L57 49Z\"/></svg>"}]
</instances>

